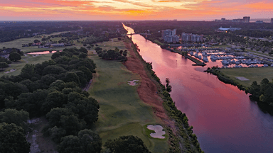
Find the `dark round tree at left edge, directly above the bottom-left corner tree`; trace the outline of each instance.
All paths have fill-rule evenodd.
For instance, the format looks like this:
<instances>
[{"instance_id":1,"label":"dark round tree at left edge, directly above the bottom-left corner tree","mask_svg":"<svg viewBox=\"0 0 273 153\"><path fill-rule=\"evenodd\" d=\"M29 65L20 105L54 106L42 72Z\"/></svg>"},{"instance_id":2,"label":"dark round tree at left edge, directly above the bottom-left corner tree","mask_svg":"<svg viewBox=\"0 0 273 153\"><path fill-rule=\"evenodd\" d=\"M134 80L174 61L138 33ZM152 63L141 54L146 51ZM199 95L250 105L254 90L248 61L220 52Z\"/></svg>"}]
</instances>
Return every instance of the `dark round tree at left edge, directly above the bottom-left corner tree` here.
<instances>
[{"instance_id":1,"label":"dark round tree at left edge, directly above the bottom-left corner tree","mask_svg":"<svg viewBox=\"0 0 273 153\"><path fill-rule=\"evenodd\" d=\"M1 123L14 123L17 126L23 128L23 130L28 129L27 120L29 113L26 111L17 111L16 109L6 109L4 112L0 112Z\"/></svg>"}]
</instances>

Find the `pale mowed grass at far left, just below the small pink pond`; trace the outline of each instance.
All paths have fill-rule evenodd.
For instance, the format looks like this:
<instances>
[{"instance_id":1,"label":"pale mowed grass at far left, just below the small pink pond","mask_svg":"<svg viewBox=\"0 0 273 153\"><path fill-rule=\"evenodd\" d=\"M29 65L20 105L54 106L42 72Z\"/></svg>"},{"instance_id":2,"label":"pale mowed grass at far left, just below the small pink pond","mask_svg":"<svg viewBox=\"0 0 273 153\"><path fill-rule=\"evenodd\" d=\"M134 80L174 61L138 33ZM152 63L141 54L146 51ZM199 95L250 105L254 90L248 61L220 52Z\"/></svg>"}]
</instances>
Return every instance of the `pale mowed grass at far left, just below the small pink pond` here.
<instances>
[{"instance_id":1,"label":"pale mowed grass at far left, just below the small pink pond","mask_svg":"<svg viewBox=\"0 0 273 153\"><path fill-rule=\"evenodd\" d=\"M26 64L38 64L38 63L42 63L44 61L50 60L51 59L51 54L47 54L47 55L39 55L39 56L33 56L33 55L27 55L27 56L22 56L22 59L18 62L12 62L10 64L10 67L7 67L4 72L8 72L11 69L16 69L16 71L14 72L10 72L8 74L5 74L4 72L0 72L0 77L4 76L4 75L18 75L21 73L21 70L23 69L23 67Z\"/></svg>"}]
</instances>

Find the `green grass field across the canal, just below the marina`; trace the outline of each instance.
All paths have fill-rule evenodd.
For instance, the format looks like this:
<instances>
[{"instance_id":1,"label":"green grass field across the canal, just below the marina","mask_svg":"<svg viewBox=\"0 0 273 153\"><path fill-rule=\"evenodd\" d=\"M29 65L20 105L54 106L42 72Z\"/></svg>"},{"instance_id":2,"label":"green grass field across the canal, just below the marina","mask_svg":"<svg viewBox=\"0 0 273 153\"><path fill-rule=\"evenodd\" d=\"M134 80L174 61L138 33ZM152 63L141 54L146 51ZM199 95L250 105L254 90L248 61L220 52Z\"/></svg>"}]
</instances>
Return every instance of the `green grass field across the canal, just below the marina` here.
<instances>
[{"instance_id":1,"label":"green grass field across the canal, just below the marina","mask_svg":"<svg viewBox=\"0 0 273 153\"><path fill-rule=\"evenodd\" d=\"M241 68L241 69L221 69L226 76L235 79L243 86L250 86L253 81L258 84L262 79L267 78L269 81L273 79L273 67L255 67L255 68ZM236 77L245 77L250 81L240 81Z\"/></svg>"}]
</instances>

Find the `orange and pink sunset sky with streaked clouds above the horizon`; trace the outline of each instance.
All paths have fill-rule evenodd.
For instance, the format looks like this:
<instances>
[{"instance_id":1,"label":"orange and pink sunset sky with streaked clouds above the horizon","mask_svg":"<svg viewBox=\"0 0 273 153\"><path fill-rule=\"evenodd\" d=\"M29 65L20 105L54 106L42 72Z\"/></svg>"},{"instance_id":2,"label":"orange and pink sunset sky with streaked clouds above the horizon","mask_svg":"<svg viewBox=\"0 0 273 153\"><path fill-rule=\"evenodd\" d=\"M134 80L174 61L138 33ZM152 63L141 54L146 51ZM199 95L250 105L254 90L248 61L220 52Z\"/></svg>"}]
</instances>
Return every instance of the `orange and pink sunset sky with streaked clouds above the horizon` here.
<instances>
[{"instance_id":1,"label":"orange and pink sunset sky with streaked clouds above the horizon","mask_svg":"<svg viewBox=\"0 0 273 153\"><path fill-rule=\"evenodd\" d=\"M273 18L272 0L0 0L0 21Z\"/></svg>"}]
</instances>

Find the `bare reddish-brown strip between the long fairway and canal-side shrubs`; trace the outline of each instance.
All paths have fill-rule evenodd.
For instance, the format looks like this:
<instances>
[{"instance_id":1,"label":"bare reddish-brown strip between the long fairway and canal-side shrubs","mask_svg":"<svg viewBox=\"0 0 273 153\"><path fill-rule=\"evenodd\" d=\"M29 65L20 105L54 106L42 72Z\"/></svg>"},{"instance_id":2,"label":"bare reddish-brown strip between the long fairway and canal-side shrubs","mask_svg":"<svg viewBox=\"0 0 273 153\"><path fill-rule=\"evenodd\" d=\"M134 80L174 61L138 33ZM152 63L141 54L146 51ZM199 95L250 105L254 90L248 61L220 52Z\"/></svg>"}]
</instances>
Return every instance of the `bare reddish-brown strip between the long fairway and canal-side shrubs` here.
<instances>
[{"instance_id":1,"label":"bare reddish-brown strip between the long fairway and canal-side shrubs","mask_svg":"<svg viewBox=\"0 0 273 153\"><path fill-rule=\"evenodd\" d=\"M152 106L154 114L161 118L161 120L168 122L168 116L165 113L163 100L157 94L156 84L154 84L151 79L146 74L143 64L141 64L141 60L137 57L136 53L132 50L131 44L129 42L124 42L125 47L130 52L130 57L127 62L124 62L124 66L127 67L130 71L139 74L141 77L141 84L137 89L137 93L139 94L139 98L144 103L147 103Z\"/></svg>"}]
</instances>

